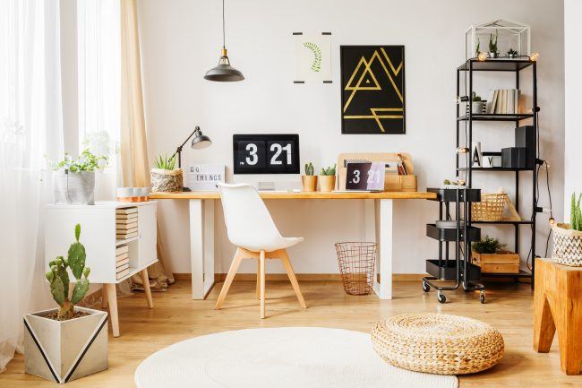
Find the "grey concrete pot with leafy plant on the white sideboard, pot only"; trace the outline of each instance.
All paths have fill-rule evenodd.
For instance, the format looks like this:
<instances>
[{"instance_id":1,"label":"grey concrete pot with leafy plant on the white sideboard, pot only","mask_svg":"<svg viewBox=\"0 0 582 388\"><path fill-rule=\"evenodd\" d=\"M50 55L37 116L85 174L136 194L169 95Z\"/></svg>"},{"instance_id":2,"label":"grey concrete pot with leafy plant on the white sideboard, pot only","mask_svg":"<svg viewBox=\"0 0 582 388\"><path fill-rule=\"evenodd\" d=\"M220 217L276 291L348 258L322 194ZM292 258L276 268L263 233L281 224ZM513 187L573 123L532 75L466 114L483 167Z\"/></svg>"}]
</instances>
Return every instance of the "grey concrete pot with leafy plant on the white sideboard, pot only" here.
<instances>
[{"instance_id":1,"label":"grey concrete pot with leafy plant on the white sideboard, pot only","mask_svg":"<svg viewBox=\"0 0 582 388\"><path fill-rule=\"evenodd\" d=\"M53 172L53 196L55 203L95 204L95 171Z\"/></svg>"}]
</instances>

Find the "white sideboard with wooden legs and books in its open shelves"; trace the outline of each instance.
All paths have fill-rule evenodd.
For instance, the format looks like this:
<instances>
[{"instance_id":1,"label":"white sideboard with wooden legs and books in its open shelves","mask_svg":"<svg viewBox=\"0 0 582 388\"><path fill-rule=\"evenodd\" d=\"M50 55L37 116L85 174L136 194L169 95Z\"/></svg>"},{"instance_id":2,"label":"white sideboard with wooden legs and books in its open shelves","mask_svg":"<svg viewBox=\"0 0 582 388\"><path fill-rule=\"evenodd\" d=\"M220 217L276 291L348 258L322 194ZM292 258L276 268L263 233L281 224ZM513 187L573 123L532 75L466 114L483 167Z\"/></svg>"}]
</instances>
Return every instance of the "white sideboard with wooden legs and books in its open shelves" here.
<instances>
[{"instance_id":1,"label":"white sideboard with wooden legs and books in its open shelves","mask_svg":"<svg viewBox=\"0 0 582 388\"><path fill-rule=\"evenodd\" d=\"M116 210L137 208L138 235L116 239ZM119 336L116 283L140 273L148 306L153 307L147 268L158 261L156 201L143 203L98 202L94 205L47 205L45 232L45 267L57 256L66 256L74 242L74 227L81 224L81 244L85 246L90 267L90 283L103 284L103 306L109 303L109 315L114 336ZM129 273L121 278L116 274L116 248L128 246ZM70 273L73 280L73 274ZM107 296L107 297L106 297Z\"/></svg>"}]
</instances>

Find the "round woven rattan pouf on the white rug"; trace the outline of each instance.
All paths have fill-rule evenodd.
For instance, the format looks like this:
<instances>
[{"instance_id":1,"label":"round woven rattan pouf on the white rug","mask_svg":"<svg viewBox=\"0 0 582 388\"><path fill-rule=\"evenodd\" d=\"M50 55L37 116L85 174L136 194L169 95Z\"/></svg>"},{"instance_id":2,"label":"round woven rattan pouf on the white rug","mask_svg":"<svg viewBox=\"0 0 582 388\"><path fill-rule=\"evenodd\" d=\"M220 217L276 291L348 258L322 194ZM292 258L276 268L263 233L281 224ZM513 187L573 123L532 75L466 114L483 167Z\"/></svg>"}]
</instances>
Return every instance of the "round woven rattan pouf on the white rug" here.
<instances>
[{"instance_id":1,"label":"round woven rattan pouf on the white rug","mask_svg":"<svg viewBox=\"0 0 582 388\"><path fill-rule=\"evenodd\" d=\"M404 314L376 323L372 345L394 366L437 375L488 369L503 357L503 337L487 323L457 315Z\"/></svg>"}]
</instances>

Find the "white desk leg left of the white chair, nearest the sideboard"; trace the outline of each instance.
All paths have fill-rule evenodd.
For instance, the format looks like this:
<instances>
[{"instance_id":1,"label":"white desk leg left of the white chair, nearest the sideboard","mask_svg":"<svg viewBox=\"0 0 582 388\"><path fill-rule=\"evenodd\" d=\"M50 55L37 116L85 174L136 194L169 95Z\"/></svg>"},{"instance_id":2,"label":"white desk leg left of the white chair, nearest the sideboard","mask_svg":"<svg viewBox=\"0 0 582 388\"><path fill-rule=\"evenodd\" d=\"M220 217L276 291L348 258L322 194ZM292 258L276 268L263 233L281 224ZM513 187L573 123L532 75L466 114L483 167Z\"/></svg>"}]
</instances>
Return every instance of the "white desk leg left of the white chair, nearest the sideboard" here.
<instances>
[{"instance_id":1,"label":"white desk leg left of the white chair, nearest the sideboard","mask_svg":"<svg viewBox=\"0 0 582 388\"><path fill-rule=\"evenodd\" d=\"M190 200L192 298L203 299L214 285L214 201Z\"/></svg>"}]
</instances>

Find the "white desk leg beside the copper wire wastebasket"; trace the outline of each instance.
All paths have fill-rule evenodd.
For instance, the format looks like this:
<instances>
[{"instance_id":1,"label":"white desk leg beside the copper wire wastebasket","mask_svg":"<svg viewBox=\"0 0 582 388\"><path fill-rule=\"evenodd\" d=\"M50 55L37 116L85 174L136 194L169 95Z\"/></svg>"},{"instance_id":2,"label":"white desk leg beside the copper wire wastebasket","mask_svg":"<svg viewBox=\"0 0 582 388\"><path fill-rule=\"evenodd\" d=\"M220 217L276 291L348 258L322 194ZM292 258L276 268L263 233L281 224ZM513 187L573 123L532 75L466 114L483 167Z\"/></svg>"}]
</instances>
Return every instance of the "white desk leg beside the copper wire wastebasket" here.
<instances>
[{"instance_id":1,"label":"white desk leg beside the copper wire wastebasket","mask_svg":"<svg viewBox=\"0 0 582 388\"><path fill-rule=\"evenodd\" d=\"M374 292L381 299L392 298L392 215L393 215L393 201L390 199L381 199L380 201L380 225L379 230L376 230L378 248L380 249L379 258L377 262L378 273L380 273L380 282L374 276ZM367 212L367 211L366 211Z\"/></svg>"}]
</instances>

